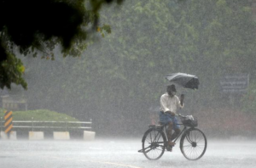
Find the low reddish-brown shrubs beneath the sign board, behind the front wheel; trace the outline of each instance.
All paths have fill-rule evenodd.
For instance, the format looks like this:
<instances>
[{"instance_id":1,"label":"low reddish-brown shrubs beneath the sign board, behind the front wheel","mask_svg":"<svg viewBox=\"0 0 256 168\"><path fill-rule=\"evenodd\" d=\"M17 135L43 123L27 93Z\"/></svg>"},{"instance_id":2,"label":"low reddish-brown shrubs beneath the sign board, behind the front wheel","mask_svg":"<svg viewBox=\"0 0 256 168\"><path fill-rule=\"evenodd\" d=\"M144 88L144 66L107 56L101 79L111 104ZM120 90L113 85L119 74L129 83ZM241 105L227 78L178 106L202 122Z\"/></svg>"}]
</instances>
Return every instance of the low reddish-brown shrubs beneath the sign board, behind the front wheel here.
<instances>
[{"instance_id":1,"label":"low reddish-brown shrubs beneath the sign board, behind the front wheel","mask_svg":"<svg viewBox=\"0 0 256 168\"><path fill-rule=\"evenodd\" d=\"M256 116L241 113L240 109L204 108L195 113L199 127L207 133L207 137L254 137Z\"/></svg>"}]
</instances>

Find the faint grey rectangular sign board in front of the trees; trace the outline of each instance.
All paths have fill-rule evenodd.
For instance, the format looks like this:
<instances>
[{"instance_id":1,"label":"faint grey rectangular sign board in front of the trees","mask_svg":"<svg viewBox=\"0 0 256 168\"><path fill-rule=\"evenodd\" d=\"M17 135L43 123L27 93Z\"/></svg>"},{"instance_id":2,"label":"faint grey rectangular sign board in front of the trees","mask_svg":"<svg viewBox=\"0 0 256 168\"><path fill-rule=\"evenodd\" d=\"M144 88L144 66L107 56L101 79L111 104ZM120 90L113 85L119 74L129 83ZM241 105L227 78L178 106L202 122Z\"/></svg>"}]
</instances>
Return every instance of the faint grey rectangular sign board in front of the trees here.
<instances>
[{"instance_id":1,"label":"faint grey rectangular sign board in front of the trees","mask_svg":"<svg viewBox=\"0 0 256 168\"><path fill-rule=\"evenodd\" d=\"M222 88L222 92L245 92L249 86L249 75L239 74L224 76L220 79L220 86Z\"/></svg>"}]
</instances>

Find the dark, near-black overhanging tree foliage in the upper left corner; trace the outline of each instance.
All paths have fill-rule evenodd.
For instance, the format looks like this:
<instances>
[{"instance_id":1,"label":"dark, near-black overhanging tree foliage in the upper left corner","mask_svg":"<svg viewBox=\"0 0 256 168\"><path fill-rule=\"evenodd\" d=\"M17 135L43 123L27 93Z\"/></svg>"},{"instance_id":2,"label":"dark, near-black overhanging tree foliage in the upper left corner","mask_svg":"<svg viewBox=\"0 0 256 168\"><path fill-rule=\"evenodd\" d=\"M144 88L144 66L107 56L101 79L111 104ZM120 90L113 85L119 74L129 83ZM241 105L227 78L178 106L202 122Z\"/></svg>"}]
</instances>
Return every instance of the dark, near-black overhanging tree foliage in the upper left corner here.
<instances>
[{"instance_id":1,"label":"dark, near-black overhanging tree foliage in the upper left corner","mask_svg":"<svg viewBox=\"0 0 256 168\"><path fill-rule=\"evenodd\" d=\"M54 59L51 51L60 44L64 56L78 56L86 48L84 41L91 33L88 27L96 29L98 11L104 3L113 2L122 0L1 0L0 88L10 88L12 82L26 88L15 46L21 54L36 56L39 52ZM108 26L102 26L104 29L109 31Z\"/></svg>"}]
</instances>

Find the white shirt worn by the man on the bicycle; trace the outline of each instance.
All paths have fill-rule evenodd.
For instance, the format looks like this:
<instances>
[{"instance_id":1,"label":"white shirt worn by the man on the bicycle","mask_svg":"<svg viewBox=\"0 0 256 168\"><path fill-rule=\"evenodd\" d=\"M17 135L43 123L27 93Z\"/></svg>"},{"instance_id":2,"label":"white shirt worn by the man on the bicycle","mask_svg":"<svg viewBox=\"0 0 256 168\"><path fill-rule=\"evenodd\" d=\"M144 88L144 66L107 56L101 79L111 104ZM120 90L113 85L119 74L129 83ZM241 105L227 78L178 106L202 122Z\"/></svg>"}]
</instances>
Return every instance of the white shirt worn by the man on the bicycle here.
<instances>
[{"instance_id":1,"label":"white shirt worn by the man on the bicycle","mask_svg":"<svg viewBox=\"0 0 256 168\"><path fill-rule=\"evenodd\" d=\"M179 98L174 95L173 97L169 96L166 92L160 98L160 110L163 112L172 111L173 113L177 112L177 108L183 108L184 104L180 104Z\"/></svg>"}]
</instances>

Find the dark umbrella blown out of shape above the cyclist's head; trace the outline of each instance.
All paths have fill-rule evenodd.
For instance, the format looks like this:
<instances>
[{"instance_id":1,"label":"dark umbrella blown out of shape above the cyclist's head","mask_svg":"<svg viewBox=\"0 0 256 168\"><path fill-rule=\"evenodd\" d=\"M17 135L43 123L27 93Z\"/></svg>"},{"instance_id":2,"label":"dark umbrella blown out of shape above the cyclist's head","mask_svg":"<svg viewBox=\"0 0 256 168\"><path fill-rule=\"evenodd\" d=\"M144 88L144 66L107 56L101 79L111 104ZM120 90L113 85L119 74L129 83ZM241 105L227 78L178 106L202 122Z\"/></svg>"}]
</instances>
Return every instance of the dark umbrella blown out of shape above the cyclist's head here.
<instances>
[{"instance_id":1,"label":"dark umbrella blown out of shape above the cyclist's head","mask_svg":"<svg viewBox=\"0 0 256 168\"><path fill-rule=\"evenodd\" d=\"M166 79L185 88L198 89L199 86L198 77L190 74L178 72L167 75Z\"/></svg>"}]
</instances>

